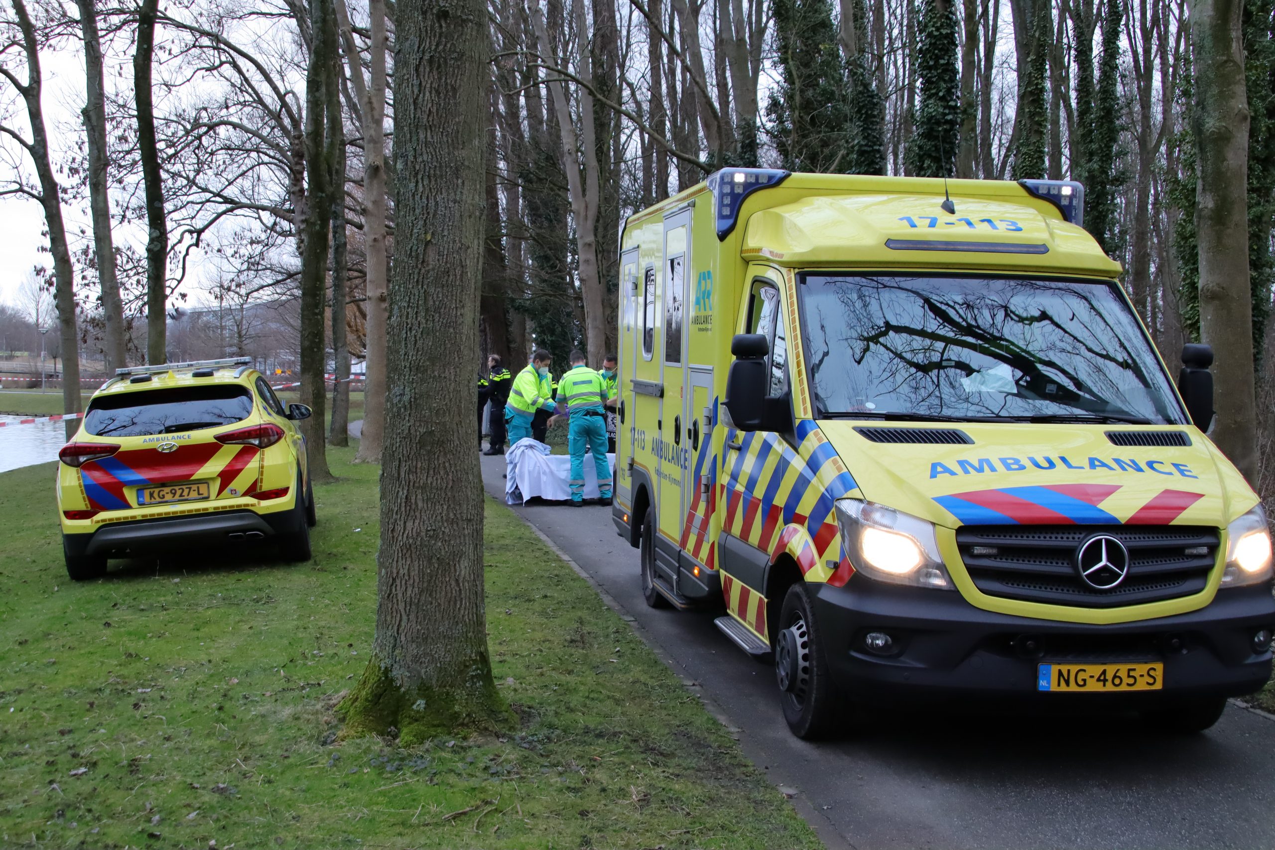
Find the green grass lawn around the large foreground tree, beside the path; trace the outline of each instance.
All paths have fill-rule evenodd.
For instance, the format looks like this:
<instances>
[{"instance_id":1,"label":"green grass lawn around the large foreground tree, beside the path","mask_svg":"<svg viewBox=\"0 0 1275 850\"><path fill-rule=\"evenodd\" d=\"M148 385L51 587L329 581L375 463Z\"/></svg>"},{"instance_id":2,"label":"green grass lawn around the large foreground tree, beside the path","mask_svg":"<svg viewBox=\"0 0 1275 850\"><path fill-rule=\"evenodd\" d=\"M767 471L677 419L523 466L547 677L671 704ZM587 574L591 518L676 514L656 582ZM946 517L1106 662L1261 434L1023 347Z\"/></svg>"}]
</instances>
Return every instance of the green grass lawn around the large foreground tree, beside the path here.
<instances>
[{"instance_id":1,"label":"green grass lawn around the large foreground tree, beside the path","mask_svg":"<svg viewBox=\"0 0 1275 850\"><path fill-rule=\"evenodd\" d=\"M376 609L379 468L352 456L329 450L311 563L193 553L87 584L62 567L51 465L0 474L0 846L819 846L492 500L490 645L520 721L409 751L342 742L333 706Z\"/></svg>"}]
</instances>

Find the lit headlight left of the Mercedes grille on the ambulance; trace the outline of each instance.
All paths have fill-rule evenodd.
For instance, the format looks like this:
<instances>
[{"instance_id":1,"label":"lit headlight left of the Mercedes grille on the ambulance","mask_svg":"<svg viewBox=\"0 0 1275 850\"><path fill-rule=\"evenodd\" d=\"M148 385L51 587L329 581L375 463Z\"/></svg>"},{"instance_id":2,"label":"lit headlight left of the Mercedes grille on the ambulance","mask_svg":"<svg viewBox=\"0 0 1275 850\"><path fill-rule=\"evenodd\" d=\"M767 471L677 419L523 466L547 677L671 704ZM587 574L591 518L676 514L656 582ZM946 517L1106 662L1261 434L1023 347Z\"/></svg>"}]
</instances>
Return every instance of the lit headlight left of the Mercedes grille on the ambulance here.
<instances>
[{"instance_id":1,"label":"lit headlight left of the Mercedes grille on the ambulance","mask_svg":"<svg viewBox=\"0 0 1275 850\"><path fill-rule=\"evenodd\" d=\"M850 566L876 581L954 590L933 522L858 498L836 501L836 525Z\"/></svg>"}]
</instances>

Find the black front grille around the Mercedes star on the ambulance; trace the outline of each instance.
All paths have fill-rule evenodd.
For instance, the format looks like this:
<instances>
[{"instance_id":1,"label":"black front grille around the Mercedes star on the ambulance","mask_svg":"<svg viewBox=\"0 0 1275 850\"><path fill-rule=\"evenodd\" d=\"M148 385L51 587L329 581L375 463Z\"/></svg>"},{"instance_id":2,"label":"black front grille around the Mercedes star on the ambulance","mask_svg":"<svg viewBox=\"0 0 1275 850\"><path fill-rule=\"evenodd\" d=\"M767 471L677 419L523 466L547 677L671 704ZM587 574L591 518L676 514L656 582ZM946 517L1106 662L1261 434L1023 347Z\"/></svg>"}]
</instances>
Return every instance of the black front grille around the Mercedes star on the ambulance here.
<instances>
[{"instance_id":1,"label":"black front grille around the Mercedes star on the ambulance","mask_svg":"<svg viewBox=\"0 0 1275 850\"><path fill-rule=\"evenodd\" d=\"M1109 534L1128 549L1128 576L1096 590L1076 572L1076 549ZM1079 608L1141 605L1197 594L1218 557L1218 530L1178 525L965 525L956 545L988 596Z\"/></svg>"}]
</instances>

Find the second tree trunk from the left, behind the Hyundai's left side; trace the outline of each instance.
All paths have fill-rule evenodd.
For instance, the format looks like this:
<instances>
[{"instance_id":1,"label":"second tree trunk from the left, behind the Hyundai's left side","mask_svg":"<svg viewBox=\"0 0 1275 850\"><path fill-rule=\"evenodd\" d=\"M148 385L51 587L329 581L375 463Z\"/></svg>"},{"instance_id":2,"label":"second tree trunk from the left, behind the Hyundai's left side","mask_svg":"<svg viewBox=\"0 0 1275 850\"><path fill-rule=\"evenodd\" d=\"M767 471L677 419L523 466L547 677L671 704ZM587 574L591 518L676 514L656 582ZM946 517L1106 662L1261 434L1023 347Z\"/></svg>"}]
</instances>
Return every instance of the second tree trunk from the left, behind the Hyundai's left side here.
<instances>
[{"instance_id":1,"label":"second tree trunk from the left, behind the Hyundai's left side","mask_svg":"<svg viewBox=\"0 0 1275 850\"><path fill-rule=\"evenodd\" d=\"M106 143L106 83L102 79L102 38L97 31L94 0L75 0L80 13L80 31L84 36L84 75L87 96L80 113L88 140L88 195L93 215L93 251L97 259L97 279L102 288L102 319L105 335L102 350L106 371L126 366L127 343L124 338L124 302L120 299L120 282L115 274L115 245L111 240L111 199L107 195L107 163L111 155Z\"/></svg>"}]
</instances>

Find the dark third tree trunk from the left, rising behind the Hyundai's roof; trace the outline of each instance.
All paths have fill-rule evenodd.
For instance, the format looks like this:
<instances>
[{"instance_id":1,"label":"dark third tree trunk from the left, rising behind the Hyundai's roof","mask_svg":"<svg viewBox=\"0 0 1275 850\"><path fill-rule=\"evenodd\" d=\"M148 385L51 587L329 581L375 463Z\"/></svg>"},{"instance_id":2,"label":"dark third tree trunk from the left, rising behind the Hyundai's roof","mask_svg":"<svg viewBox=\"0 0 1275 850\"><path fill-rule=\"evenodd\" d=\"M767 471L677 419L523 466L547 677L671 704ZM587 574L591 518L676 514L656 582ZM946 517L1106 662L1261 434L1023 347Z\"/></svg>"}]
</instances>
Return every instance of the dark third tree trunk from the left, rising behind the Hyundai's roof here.
<instances>
[{"instance_id":1,"label":"dark third tree trunk from the left, rising behind the Hyundai's roof","mask_svg":"<svg viewBox=\"0 0 1275 850\"><path fill-rule=\"evenodd\" d=\"M168 361L168 222L163 206L163 172L156 145L156 107L150 65L156 50L159 0L138 8L138 50L133 55L133 97L138 104L138 159L147 204L147 363Z\"/></svg>"}]
</instances>

